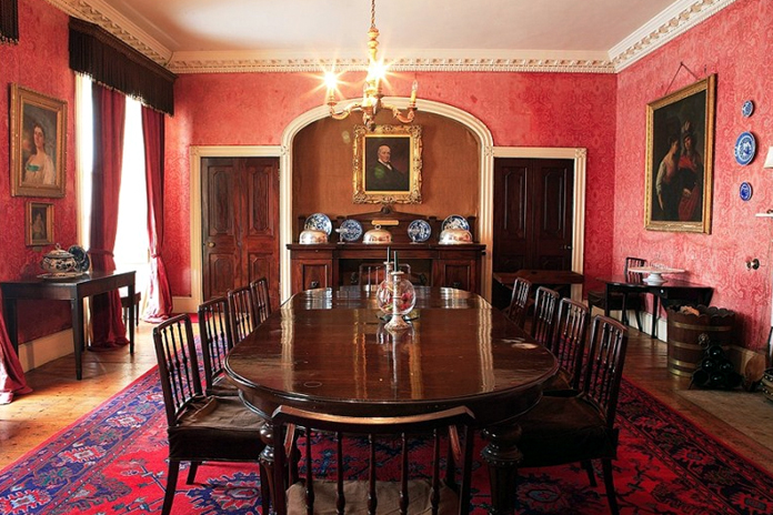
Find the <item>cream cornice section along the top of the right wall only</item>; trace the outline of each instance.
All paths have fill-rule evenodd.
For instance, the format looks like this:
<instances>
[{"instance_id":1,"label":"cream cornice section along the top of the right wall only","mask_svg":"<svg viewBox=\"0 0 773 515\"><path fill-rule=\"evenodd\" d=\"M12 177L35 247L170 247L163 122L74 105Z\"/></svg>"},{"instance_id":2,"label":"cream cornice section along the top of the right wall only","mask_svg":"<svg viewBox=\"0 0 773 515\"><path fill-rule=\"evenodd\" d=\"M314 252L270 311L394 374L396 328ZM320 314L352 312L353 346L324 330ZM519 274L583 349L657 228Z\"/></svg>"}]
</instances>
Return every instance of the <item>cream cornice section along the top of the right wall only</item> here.
<instances>
[{"instance_id":1,"label":"cream cornice section along the top of the right wall only","mask_svg":"<svg viewBox=\"0 0 773 515\"><path fill-rule=\"evenodd\" d=\"M735 0L677 0L610 49L615 72L630 67L733 2Z\"/></svg>"}]
</instances>

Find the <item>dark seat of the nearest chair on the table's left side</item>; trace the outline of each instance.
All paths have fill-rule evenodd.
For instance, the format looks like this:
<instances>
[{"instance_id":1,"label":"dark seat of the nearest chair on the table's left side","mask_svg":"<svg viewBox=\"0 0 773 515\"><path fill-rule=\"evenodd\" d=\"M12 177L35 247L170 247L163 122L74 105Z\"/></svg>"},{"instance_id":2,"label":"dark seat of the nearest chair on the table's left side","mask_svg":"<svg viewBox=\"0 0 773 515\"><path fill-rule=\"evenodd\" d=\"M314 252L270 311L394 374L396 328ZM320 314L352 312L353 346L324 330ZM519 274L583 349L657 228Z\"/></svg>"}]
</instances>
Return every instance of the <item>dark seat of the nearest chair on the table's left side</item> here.
<instances>
[{"instance_id":1,"label":"dark seat of the nearest chair on the table's left side","mask_svg":"<svg viewBox=\"0 0 773 515\"><path fill-rule=\"evenodd\" d=\"M264 423L239 397L197 400L169 427L169 453L180 461L257 462Z\"/></svg>"}]
</instances>

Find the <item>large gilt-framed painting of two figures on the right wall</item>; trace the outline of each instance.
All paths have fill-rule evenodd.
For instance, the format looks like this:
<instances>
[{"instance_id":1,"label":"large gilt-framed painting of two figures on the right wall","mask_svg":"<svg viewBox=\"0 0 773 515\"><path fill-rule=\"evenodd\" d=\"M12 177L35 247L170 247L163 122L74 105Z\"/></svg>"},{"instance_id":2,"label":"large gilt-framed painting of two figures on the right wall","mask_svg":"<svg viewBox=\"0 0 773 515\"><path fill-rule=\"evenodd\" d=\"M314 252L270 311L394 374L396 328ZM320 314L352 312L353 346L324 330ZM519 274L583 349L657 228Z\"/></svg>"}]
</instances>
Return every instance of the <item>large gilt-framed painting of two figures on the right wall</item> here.
<instances>
[{"instance_id":1,"label":"large gilt-framed painting of two figures on the right wall","mask_svg":"<svg viewBox=\"0 0 773 515\"><path fill-rule=\"evenodd\" d=\"M645 228L711 233L716 75L647 104Z\"/></svg>"}]
</instances>

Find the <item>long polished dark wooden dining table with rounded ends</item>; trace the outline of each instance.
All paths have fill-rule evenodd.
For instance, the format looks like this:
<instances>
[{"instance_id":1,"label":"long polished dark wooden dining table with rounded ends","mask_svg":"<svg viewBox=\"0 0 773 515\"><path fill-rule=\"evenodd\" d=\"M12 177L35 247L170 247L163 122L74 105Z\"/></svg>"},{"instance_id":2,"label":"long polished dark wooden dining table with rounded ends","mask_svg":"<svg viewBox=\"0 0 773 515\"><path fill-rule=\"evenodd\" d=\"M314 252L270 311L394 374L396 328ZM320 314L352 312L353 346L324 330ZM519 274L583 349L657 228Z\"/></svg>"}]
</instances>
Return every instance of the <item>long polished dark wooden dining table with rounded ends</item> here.
<instances>
[{"instance_id":1,"label":"long polished dark wooden dining table with rounded ends","mask_svg":"<svg viewBox=\"0 0 773 515\"><path fill-rule=\"evenodd\" d=\"M395 333L373 295L343 287L292 296L227 359L242 400L267 420L280 405L354 416L464 405L488 440L491 513L513 513L521 456L513 418L540 401L555 357L475 293L416 287L411 326ZM270 431L262 437L270 472Z\"/></svg>"}]
</instances>

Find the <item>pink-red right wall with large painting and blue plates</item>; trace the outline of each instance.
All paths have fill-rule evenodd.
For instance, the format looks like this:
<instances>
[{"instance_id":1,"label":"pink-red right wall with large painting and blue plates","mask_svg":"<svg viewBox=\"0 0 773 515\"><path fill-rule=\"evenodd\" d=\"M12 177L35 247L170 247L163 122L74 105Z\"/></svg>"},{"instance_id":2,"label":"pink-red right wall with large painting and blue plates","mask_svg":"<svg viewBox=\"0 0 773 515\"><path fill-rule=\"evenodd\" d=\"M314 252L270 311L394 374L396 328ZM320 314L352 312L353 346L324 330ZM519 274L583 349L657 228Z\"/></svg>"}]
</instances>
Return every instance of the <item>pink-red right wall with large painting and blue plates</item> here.
<instances>
[{"instance_id":1,"label":"pink-red right wall with large painting and blue plates","mask_svg":"<svg viewBox=\"0 0 773 515\"><path fill-rule=\"evenodd\" d=\"M618 74L612 210L612 255L622 270L628 255L682 267L686 279L714 287L713 305L736 312L736 344L766 354L771 324L773 219L755 213L773 208L773 176L762 164L773 147L773 2L732 3ZM714 186L711 234L644 229L646 105L667 93L716 74ZM745 100L752 117L741 114ZM740 165L737 137L751 131L756 158ZM753 196L741 200L743 181ZM759 259L759 270L746 261Z\"/></svg>"}]
</instances>

